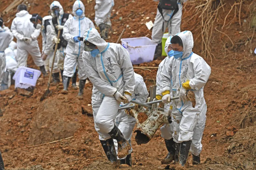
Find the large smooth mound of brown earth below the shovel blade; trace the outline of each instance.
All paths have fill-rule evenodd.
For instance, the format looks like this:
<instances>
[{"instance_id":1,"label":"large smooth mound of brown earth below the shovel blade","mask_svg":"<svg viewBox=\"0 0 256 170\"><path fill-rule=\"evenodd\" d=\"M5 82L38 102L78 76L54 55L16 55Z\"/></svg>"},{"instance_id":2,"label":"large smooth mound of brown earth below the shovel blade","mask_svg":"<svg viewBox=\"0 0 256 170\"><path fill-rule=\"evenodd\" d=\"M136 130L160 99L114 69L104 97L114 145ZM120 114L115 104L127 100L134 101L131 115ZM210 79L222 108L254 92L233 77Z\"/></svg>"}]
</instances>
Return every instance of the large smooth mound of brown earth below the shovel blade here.
<instances>
[{"instance_id":1,"label":"large smooth mound of brown earth below the shovel blade","mask_svg":"<svg viewBox=\"0 0 256 170\"><path fill-rule=\"evenodd\" d=\"M79 100L70 100L60 94L52 99L46 99L40 104L31 122L28 139L30 145L38 145L74 135L79 125L71 118L78 112L72 104L79 103Z\"/></svg>"}]
</instances>

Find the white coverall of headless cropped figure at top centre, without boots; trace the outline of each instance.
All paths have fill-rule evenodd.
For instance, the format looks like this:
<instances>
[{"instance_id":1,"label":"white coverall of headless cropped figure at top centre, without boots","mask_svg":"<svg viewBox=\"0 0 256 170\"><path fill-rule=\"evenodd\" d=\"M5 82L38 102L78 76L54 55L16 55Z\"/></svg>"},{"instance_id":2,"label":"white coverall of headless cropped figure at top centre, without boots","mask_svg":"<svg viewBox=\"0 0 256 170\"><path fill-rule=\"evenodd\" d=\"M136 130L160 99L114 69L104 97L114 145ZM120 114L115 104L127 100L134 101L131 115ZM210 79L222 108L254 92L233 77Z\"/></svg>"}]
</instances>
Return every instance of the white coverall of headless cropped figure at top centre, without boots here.
<instances>
[{"instance_id":1,"label":"white coverall of headless cropped figure at top centre, without boots","mask_svg":"<svg viewBox=\"0 0 256 170\"><path fill-rule=\"evenodd\" d=\"M111 26L110 17L114 5L114 0L96 0L94 21L97 26L103 23Z\"/></svg>"}]
</instances>

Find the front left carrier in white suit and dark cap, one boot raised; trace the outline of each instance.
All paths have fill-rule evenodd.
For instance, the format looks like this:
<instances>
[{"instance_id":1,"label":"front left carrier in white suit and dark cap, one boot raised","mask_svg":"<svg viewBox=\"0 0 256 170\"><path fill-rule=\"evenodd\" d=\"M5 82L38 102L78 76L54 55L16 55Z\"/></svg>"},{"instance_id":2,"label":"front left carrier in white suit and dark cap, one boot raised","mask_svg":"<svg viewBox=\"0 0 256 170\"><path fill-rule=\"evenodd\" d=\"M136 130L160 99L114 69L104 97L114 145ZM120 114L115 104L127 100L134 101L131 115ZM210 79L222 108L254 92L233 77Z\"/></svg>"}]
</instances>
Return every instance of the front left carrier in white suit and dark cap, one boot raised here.
<instances>
[{"instance_id":1,"label":"front left carrier in white suit and dark cap, one boot raised","mask_svg":"<svg viewBox=\"0 0 256 170\"><path fill-rule=\"evenodd\" d=\"M131 146L114 124L121 102L129 103L135 79L129 53L120 44L107 43L94 28L84 33L83 62L86 74L102 97L92 102L95 125L109 161L118 163L113 139L118 142L118 157L129 153Z\"/></svg>"}]
</instances>

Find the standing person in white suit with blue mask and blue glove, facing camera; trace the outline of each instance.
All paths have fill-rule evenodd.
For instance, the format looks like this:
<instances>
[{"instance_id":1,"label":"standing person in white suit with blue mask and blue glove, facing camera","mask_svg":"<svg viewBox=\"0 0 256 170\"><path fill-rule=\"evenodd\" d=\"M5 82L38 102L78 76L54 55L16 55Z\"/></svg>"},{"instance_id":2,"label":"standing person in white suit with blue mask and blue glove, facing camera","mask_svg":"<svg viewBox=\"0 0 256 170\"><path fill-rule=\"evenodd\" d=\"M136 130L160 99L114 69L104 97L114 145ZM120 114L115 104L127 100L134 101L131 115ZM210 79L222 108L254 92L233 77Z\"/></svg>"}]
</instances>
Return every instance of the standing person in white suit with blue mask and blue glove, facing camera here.
<instances>
[{"instance_id":1,"label":"standing person in white suit with blue mask and blue glove, facing camera","mask_svg":"<svg viewBox=\"0 0 256 170\"><path fill-rule=\"evenodd\" d=\"M63 28L63 38L68 41L63 72L63 94L67 94L69 81L76 72L78 66L79 93L82 96L83 88L87 79L83 64L82 54L84 49L83 34L89 28L95 28L93 22L85 17L82 1L75 1L73 5L73 18L69 18Z\"/></svg>"}]
</instances>

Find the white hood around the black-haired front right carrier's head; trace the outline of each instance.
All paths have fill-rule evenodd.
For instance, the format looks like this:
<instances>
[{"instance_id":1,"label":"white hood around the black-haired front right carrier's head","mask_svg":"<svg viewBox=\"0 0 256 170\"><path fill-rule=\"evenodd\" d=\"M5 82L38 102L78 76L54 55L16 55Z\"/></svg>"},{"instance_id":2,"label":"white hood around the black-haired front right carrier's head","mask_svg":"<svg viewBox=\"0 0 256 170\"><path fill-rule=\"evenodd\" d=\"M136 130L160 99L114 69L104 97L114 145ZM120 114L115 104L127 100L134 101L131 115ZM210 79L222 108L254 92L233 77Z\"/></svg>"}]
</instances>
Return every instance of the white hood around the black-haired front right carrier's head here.
<instances>
[{"instance_id":1,"label":"white hood around the black-haired front right carrier's head","mask_svg":"<svg viewBox=\"0 0 256 170\"><path fill-rule=\"evenodd\" d=\"M187 58L191 52L192 48L194 47L194 40L193 40L193 35L191 31L183 31L180 32L178 35L183 43L183 55L181 58Z\"/></svg>"}]
</instances>

